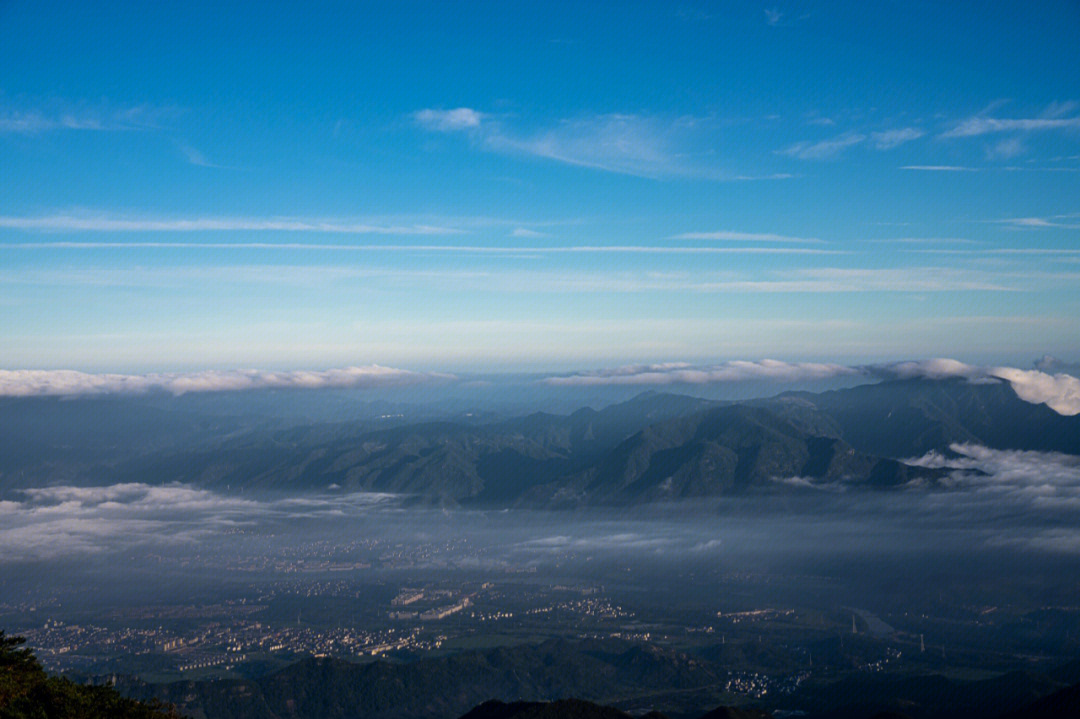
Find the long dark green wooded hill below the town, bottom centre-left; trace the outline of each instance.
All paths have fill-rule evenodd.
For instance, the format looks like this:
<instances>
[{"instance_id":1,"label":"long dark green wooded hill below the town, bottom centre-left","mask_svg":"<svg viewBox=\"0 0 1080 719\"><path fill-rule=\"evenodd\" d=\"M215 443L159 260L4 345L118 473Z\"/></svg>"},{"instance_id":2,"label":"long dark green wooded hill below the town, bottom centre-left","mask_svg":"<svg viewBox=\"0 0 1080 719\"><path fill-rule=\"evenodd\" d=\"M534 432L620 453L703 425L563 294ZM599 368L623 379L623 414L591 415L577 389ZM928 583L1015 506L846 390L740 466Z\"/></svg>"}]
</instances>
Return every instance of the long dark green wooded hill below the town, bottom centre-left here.
<instances>
[{"instance_id":1,"label":"long dark green wooded hill below the town, bottom centre-left","mask_svg":"<svg viewBox=\"0 0 1080 719\"><path fill-rule=\"evenodd\" d=\"M708 663L656 647L552 640L409 664L312 659L254 680L140 684L124 691L173 702L197 718L436 719L491 698L607 702L643 691L712 687L721 679Z\"/></svg>"}]
</instances>

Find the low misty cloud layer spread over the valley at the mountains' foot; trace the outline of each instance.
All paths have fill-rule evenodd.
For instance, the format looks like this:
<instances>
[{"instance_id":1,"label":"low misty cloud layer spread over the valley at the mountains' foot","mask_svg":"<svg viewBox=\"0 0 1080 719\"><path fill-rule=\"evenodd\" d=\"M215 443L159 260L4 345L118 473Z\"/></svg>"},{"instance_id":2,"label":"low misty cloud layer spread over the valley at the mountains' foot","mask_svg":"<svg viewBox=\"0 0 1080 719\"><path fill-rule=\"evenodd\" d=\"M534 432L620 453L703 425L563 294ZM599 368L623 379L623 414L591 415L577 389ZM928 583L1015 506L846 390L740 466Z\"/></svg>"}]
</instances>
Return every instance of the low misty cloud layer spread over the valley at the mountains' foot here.
<instances>
[{"instance_id":1,"label":"low misty cloud layer spread over the valley at the mountains' foot","mask_svg":"<svg viewBox=\"0 0 1080 719\"><path fill-rule=\"evenodd\" d=\"M592 558L652 558L671 568L706 556L759 566L762 557L866 553L877 560L1002 547L1080 557L1080 457L970 444L950 449L909 460L948 470L945 489L848 489L794 502L784 494L698 498L582 513L429 510L392 494L333 488L285 497L143 483L39 487L0 500L0 569L117 552L124 561L160 554L177 562L269 557L273 564L295 559L305 542L341 547L336 556L359 560L357 531L365 542L423 545L423 567L433 568L521 569Z\"/></svg>"}]
</instances>

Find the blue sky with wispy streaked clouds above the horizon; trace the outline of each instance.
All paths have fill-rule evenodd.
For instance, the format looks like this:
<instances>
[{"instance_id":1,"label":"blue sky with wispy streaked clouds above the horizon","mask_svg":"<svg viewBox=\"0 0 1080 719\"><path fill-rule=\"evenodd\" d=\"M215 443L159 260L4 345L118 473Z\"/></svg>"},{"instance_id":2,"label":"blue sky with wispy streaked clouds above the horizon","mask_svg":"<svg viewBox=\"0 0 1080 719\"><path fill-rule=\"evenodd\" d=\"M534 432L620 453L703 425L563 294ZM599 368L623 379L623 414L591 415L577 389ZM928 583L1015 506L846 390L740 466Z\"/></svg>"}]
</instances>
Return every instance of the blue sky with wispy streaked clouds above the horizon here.
<instances>
[{"instance_id":1,"label":"blue sky with wispy streaked clouds above the horizon","mask_svg":"<svg viewBox=\"0 0 1080 719\"><path fill-rule=\"evenodd\" d=\"M1080 6L0 3L0 368L1080 356Z\"/></svg>"}]
</instances>

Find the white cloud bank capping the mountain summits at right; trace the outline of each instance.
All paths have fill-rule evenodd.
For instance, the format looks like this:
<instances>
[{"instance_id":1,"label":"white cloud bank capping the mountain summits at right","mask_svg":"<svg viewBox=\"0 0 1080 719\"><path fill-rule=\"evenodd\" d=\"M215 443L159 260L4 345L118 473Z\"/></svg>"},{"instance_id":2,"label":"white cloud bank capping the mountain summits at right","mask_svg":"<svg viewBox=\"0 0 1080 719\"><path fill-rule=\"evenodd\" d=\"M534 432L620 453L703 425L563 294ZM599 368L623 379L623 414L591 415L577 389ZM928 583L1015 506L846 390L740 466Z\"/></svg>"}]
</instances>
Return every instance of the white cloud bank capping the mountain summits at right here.
<instances>
[{"instance_id":1,"label":"white cloud bank capping the mountain summits at right","mask_svg":"<svg viewBox=\"0 0 1080 719\"><path fill-rule=\"evenodd\" d=\"M1045 358L1039 362L1041 367L1049 367L1045 364ZM1059 415L1080 415L1080 379L1071 375L1051 374L1042 371L1042 369L984 367L946 357L859 366L787 363L779 360L735 361L699 366L687 363L626 365L562 377L548 377L542 382L550 386L662 385L711 384L751 380L804 382L839 377L966 379L975 383L1007 381L1012 385L1016 395L1025 402L1044 404Z\"/></svg>"}]
</instances>

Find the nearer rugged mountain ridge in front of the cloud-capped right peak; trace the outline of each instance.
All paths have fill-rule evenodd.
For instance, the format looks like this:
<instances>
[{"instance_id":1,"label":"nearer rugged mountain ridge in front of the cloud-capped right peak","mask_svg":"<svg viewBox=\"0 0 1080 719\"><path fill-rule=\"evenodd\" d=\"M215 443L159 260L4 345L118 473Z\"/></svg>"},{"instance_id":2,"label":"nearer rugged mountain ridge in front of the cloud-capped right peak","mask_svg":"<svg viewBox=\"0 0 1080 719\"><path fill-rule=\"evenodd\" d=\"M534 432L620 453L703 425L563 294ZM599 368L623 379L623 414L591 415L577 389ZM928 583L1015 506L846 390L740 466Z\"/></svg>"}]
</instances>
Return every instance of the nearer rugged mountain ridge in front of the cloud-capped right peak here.
<instances>
[{"instance_id":1,"label":"nearer rugged mountain ridge in front of the cloud-capped right peak","mask_svg":"<svg viewBox=\"0 0 1080 719\"><path fill-rule=\"evenodd\" d=\"M703 404L650 395L600 412L484 426L429 423L314 446L240 440L134 462L122 476L280 490L336 485L501 506L738 494L793 477L888 487L934 476L806 429L828 428L826 417L784 417L745 405L699 409Z\"/></svg>"}]
</instances>

